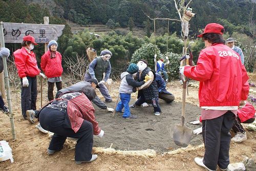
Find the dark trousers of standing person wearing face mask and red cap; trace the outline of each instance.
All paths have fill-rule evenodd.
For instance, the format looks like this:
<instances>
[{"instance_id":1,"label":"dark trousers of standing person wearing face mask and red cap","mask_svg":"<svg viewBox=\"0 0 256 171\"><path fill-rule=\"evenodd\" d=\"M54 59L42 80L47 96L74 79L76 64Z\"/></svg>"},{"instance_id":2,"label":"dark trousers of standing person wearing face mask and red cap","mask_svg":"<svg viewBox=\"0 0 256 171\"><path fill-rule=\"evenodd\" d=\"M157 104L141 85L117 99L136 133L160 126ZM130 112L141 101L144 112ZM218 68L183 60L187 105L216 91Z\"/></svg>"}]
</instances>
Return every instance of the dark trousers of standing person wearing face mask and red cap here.
<instances>
[{"instance_id":1,"label":"dark trousers of standing person wearing face mask and red cap","mask_svg":"<svg viewBox=\"0 0 256 171\"><path fill-rule=\"evenodd\" d=\"M23 117L27 117L27 110L36 110L36 98L37 98L37 78L27 76L29 80L29 87L22 86L22 115ZM22 85L22 78L20 79Z\"/></svg>"}]
</instances>

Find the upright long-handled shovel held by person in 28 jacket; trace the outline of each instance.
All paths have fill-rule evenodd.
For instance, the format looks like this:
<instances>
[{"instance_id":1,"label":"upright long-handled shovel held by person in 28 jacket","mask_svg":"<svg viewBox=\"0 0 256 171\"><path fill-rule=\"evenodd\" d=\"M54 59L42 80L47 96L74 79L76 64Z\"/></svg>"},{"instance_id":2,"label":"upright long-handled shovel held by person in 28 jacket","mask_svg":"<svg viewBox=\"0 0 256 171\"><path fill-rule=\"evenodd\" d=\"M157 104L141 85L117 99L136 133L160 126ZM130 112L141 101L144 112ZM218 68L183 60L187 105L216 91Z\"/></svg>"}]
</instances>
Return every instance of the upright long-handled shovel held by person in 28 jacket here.
<instances>
[{"instance_id":1,"label":"upright long-handled shovel held by person in 28 jacket","mask_svg":"<svg viewBox=\"0 0 256 171\"><path fill-rule=\"evenodd\" d=\"M188 62L188 61L187 61ZM181 66L183 64L183 61L181 62ZM186 83L188 78L184 78L180 74L180 78L182 80L183 86L182 86L182 109L181 109L181 125L175 124L174 126L174 142L176 145L187 147L191 137L192 137L192 129L189 129L184 125L185 121L185 102L186 102Z\"/></svg>"}]
</instances>

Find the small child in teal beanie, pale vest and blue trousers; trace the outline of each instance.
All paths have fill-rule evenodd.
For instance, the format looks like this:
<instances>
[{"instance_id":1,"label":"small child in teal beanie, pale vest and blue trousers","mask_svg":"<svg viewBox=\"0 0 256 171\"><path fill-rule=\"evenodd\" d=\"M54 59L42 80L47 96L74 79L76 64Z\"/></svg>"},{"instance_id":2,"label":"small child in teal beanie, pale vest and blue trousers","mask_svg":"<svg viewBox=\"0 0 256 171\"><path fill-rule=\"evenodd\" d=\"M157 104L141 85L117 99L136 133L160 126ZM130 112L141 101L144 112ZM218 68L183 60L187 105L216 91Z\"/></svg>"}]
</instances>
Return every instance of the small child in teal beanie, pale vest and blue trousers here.
<instances>
[{"instance_id":1,"label":"small child in teal beanie, pale vest and blue trousers","mask_svg":"<svg viewBox=\"0 0 256 171\"><path fill-rule=\"evenodd\" d=\"M135 63L131 63L127 71L121 74L122 81L119 88L121 101L117 104L116 111L122 113L122 109L124 108L123 118L125 119L137 118L137 116L131 115L130 112L129 102L131 100L131 94L133 93L133 88L140 87L147 81L147 79L140 82L134 80L133 74L138 71L138 66Z\"/></svg>"}]
</instances>

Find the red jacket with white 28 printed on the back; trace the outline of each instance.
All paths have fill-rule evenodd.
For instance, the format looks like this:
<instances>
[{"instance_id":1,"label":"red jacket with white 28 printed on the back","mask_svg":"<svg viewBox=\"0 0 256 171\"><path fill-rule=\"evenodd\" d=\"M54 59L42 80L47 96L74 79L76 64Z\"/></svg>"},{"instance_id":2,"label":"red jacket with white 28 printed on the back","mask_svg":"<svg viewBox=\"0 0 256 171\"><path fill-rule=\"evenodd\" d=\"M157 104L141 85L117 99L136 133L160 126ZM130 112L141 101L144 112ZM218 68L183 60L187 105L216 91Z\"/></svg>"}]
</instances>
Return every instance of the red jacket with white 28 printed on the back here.
<instances>
[{"instance_id":1,"label":"red jacket with white 28 printed on the back","mask_svg":"<svg viewBox=\"0 0 256 171\"><path fill-rule=\"evenodd\" d=\"M200 106L239 106L249 93L249 77L240 56L223 44L203 49L197 66L185 66L184 75L200 81Z\"/></svg>"}]
</instances>

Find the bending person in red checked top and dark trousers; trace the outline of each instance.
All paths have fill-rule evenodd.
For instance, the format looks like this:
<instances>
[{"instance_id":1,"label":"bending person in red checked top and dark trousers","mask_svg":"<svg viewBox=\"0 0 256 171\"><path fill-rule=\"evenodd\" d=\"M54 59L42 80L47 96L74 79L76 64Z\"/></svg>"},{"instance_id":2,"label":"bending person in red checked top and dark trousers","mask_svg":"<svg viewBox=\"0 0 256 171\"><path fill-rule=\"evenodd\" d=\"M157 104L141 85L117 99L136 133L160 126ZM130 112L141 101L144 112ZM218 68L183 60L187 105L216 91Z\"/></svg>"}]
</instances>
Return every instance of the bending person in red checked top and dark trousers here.
<instances>
[{"instance_id":1,"label":"bending person in red checked top and dark trousers","mask_svg":"<svg viewBox=\"0 0 256 171\"><path fill-rule=\"evenodd\" d=\"M91 103L96 96L94 89L86 87L82 92L61 95L46 105L39 114L42 128L54 133L48 154L60 151L67 137L76 138L76 164L97 159L97 155L92 155L93 135L104 135L104 131L100 130L95 120Z\"/></svg>"}]
</instances>

